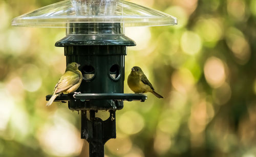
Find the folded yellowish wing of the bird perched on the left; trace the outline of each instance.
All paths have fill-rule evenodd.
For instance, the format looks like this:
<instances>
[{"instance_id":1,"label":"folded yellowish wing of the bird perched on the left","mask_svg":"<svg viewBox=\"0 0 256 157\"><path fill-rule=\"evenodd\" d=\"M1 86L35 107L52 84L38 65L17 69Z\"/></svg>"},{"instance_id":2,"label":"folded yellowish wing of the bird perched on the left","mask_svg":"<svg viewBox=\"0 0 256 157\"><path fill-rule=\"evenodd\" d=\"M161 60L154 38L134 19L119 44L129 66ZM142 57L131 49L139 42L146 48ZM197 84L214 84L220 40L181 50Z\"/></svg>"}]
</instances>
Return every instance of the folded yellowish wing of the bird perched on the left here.
<instances>
[{"instance_id":1,"label":"folded yellowish wing of the bird perched on the left","mask_svg":"<svg viewBox=\"0 0 256 157\"><path fill-rule=\"evenodd\" d=\"M59 79L55 86L54 93L65 91L66 89L72 87L80 79L80 76L74 72L66 71Z\"/></svg>"}]
</instances>

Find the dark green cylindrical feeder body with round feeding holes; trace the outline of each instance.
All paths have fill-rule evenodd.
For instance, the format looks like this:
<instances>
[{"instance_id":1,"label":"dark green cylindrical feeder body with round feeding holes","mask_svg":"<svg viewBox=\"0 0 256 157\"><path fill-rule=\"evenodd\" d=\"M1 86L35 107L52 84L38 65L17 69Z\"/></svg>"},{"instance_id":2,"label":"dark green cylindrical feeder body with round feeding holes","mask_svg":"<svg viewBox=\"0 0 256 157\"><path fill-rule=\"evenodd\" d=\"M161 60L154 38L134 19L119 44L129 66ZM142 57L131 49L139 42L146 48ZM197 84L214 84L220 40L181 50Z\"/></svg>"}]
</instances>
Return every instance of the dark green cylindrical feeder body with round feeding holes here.
<instances>
[{"instance_id":1,"label":"dark green cylindrical feeder body with round feeding holes","mask_svg":"<svg viewBox=\"0 0 256 157\"><path fill-rule=\"evenodd\" d=\"M77 27L79 25L79 27ZM123 93L124 56L127 46L135 42L121 34L114 24L72 24L67 36L56 42L65 48L67 64L77 62L83 80L77 92ZM91 34L97 32L97 34ZM122 100L70 100L71 110L116 110L123 108Z\"/></svg>"}]
</instances>

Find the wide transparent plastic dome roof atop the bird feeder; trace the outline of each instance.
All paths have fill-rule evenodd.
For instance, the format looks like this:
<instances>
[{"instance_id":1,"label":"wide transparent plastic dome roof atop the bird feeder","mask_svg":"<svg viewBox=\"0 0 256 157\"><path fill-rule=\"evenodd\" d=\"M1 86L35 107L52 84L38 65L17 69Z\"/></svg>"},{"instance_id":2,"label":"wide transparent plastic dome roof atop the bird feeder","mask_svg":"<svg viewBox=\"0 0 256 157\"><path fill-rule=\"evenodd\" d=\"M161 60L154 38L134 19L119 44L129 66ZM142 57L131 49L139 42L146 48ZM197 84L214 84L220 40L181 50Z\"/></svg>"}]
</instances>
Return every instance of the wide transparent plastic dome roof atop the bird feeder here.
<instances>
[{"instance_id":1,"label":"wide transparent plastic dome roof atop the bird feeder","mask_svg":"<svg viewBox=\"0 0 256 157\"><path fill-rule=\"evenodd\" d=\"M121 23L125 27L166 26L177 25L177 18L122 0L65 0L12 20L12 26L22 27L67 28L70 23Z\"/></svg>"}]
</instances>

